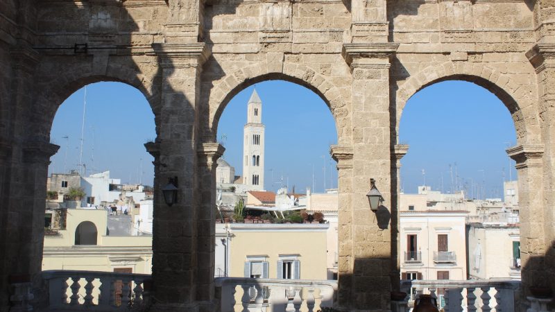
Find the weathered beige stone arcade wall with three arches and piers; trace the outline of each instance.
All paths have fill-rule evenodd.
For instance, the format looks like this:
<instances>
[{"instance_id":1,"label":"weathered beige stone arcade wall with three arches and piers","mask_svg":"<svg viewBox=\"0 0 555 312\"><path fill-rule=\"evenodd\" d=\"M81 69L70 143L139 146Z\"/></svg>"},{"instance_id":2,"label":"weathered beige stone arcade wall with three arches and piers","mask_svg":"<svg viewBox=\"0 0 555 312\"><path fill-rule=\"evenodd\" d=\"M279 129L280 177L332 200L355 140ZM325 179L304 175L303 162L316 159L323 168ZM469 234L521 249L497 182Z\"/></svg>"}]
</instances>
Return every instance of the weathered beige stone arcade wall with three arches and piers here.
<instances>
[{"instance_id":1,"label":"weathered beige stone arcade wall with three arches and piers","mask_svg":"<svg viewBox=\"0 0 555 312\"><path fill-rule=\"evenodd\" d=\"M311 89L334 116L339 306L389 309L407 153L399 121L413 94L444 80L485 87L513 117L522 289L555 290L555 267L546 264L555 259L554 8L517 0L3 1L0 307L9 305L8 275L30 275L40 287L47 166L58 150L51 123L70 94L99 81L136 87L155 115L157 137L146 148L155 157L156 311L212 309L219 118L241 89L270 79ZM170 177L180 187L168 209L161 189ZM368 207L370 178L384 218Z\"/></svg>"}]
</instances>

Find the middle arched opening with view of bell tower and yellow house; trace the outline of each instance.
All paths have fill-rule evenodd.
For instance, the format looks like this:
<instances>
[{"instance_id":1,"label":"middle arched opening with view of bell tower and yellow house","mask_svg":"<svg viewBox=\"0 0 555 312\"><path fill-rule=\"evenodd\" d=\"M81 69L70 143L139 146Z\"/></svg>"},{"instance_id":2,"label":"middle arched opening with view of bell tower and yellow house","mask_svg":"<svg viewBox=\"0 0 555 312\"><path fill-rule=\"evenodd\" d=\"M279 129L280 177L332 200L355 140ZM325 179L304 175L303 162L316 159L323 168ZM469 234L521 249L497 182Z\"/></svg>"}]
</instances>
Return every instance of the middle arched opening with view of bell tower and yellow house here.
<instances>
[{"instance_id":1,"label":"middle arched opening with view of bell tower and yellow house","mask_svg":"<svg viewBox=\"0 0 555 312\"><path fill-rule=\"evenodd\" d=\"M335 121L323 96L295 82L248 82L218 109L217 141L237 176L234 184L216 177L216 276L336 276L337 171L329 152ZM293 225L284 223L298 225L287 230Z\"/></svg>"}]
</instances>

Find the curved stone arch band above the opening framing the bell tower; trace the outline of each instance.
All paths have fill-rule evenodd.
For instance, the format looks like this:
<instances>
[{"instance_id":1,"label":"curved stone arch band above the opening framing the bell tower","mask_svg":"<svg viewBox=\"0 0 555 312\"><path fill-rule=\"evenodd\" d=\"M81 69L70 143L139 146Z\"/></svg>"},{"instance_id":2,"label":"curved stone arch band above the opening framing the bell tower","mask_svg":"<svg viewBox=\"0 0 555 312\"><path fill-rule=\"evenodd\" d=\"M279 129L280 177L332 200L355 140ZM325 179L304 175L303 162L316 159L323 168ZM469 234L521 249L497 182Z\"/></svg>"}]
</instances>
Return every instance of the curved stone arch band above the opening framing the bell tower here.
<instances>
[{"instance_id":1,"label":"curved stone arch band above the opening framing the bell tower","mask_svg":"<svg viewBox=\"0 0 555 312\"><path fill-rule=\"evenodd\" d=\"M325 76L302 64L291 64L291 66L284 64L284 69L291 69L284 70L283 73L264 71L265 68L267 67L263 64L250 65L250 67L235 71L214 86L212 92L210 92L210 116L207 127L207 133L210 133L211 139L214 140L216 137L223 110L241 90L266 80L285 80L306 87L322 98L334 117L338 144L340 144L348 133L345 130L345 119L348 119L349 114L347 103L350 103L350 93L346 96L341 94L339 88L328 81Z\"/></svg>"}]
</instances>

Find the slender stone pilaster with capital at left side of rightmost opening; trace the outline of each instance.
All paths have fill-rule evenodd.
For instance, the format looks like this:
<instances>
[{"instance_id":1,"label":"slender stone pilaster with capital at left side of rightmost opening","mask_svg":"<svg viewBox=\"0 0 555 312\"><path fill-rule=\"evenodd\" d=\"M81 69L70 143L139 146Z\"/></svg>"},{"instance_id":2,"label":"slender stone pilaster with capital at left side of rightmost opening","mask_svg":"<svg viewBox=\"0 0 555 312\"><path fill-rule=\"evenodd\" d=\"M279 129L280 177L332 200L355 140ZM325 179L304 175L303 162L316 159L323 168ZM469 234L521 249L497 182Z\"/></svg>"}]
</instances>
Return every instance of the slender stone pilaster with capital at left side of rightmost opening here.
<instances>
[{"instance_id":1,"label":"slender stone pilaster with capital at left side of rightmost opening","mask_svg":"<svg viewBox=\"0 0 555 312\"><path fill-rule=\"evenodd\" d=\"M397 259L397 261L391 261L391 286L394 291L400 291L401 286L401 263L400 259L402 257L400 250L400 219L399 219L399 194L401 192L401 159L404 155L407 155L409 151L409 146L406 144L396 144L393 147L393 153L391 154L391 189L395 191L391 193L391 258Z\"/></svg>"}]
</instances>

